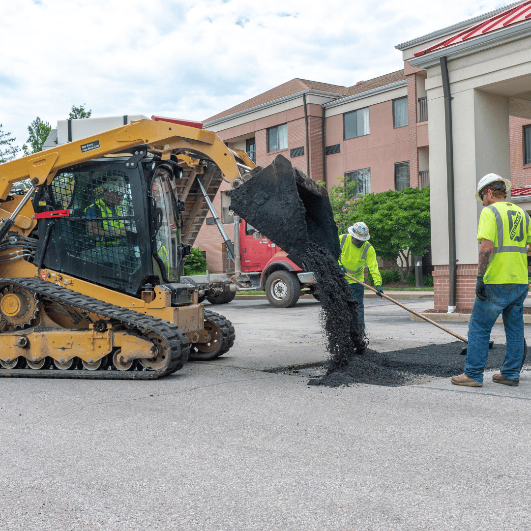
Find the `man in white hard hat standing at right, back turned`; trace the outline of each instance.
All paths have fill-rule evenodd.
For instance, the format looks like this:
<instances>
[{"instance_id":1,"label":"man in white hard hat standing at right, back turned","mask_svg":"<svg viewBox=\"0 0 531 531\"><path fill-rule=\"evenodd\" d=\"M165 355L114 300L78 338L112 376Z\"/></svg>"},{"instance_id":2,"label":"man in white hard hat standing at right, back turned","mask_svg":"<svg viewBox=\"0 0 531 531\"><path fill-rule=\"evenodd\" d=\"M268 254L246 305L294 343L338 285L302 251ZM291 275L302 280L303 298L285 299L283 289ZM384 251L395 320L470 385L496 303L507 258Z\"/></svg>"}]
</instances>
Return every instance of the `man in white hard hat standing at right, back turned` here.
<instances>
[{"instance_id":1,"label":"man in white hard hat standing at right, back turned","mask_svg":"<svg viewBox=\"0 0 531 531\"><path fill-rule=\"evenodd\" d=\"M518 386L524 357L524 301L529 289L527 243L531 227L527 212L507 201L511 182L489 173L479 180L476 199L483 203L477 239L476 299L468 322L465 371L452 376L458 386L481 387L489 355L492 327L500 313L506 335L506 355L492 381Z\"/></svg>"}]
</instances>

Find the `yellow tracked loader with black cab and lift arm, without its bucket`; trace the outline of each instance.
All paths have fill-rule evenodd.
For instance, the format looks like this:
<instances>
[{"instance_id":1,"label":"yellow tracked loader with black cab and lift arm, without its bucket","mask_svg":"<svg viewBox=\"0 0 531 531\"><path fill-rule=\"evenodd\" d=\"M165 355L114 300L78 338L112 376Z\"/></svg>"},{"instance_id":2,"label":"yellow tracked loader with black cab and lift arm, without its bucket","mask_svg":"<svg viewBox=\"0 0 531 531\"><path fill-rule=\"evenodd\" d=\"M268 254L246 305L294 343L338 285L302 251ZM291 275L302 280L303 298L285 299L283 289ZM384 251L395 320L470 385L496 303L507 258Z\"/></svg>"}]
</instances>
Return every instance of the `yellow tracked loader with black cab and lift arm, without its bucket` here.
<instances>
[{"instance_id":1,"label":"yellow tracked loader with black cab and lift arm, without its bucket","mask_svg":"<svg viewBox=\"0 0 531 531\"><path fill-rule=\"evenodd\" d=\"M149 119L1 164L0 376L154 379L228 352L232 324L181 275L221 179L253 168L216 133Z\"/></svg>"}]
</instances>

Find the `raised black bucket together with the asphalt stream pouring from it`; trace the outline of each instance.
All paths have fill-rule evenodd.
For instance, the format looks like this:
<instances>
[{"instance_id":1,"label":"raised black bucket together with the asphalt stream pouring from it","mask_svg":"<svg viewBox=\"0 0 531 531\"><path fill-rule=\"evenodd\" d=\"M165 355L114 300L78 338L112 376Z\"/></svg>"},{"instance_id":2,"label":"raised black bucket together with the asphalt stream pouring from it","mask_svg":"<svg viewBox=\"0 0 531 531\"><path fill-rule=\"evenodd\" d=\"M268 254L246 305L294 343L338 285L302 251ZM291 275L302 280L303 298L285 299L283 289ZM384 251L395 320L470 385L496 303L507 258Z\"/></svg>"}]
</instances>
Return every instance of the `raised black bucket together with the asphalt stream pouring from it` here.
<instances>
[{"instance_id":1,"label":"raised black bucket together with the asphalt stream pouring from it","mask_svg":"<svg viewBox=\"0 0 531 531\"><path fill-rule=\"evenodd\" d=\"M304 271L313 271L321 302L321 326L329 354L328 373L356 363L366 340L358 303L338 265L337 225L327 191L277 156L228 193L230 208L288 253Z\"/></svg>"}]
</instances>

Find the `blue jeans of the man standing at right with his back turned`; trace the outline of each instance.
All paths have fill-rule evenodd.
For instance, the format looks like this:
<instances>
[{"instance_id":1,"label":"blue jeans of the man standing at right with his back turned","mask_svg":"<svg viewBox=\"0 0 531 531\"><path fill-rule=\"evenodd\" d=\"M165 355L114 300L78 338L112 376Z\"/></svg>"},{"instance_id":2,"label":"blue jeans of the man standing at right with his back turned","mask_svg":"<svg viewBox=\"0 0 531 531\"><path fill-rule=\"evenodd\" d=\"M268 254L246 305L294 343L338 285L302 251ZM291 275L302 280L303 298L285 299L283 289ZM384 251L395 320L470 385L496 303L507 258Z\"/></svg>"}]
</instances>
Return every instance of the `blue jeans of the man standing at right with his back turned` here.
<instances>
[{"instance_id":1,"label":"blue jeans of the man standing at right with his back turned","mask_svg":"<svg viewBox=\"0 0 531 531\"><path fill-rule=\"evenodd\" d=\"M518 381L524 356L524 301L529 287L527 284L486 284L485 290L486 301L476 297L468 322L465 374L483 382L491 330L501 313L507 341L501 374L503 378Z\"/></svg>"}]
</instances>

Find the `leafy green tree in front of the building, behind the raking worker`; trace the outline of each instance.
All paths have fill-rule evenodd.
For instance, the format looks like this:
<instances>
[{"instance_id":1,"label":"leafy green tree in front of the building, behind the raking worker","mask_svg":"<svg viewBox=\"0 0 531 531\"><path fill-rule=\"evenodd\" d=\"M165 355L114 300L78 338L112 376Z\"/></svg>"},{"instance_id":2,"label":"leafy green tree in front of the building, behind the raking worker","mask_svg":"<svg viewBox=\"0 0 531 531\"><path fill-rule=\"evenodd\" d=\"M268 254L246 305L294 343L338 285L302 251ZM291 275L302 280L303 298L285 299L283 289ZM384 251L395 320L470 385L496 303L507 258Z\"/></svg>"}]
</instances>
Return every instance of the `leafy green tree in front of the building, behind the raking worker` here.
<instances>
[{"instance_id":1,"label":"leafy green tree in front of the building, behind the raking worker","mask_svg":"<svg viewBox=\"0 0 531 531\"><path fill-rule=\"evenodd\" d=\"M349 195L350 193L350 195ZM389 190L352 198L345 184L329 191L340 234L355 221L363 221L371 233L371 244L383 260L395 261L405 281L412 256L426 252L431 243L430 189Z\"/></svg>"}]
</instances>

